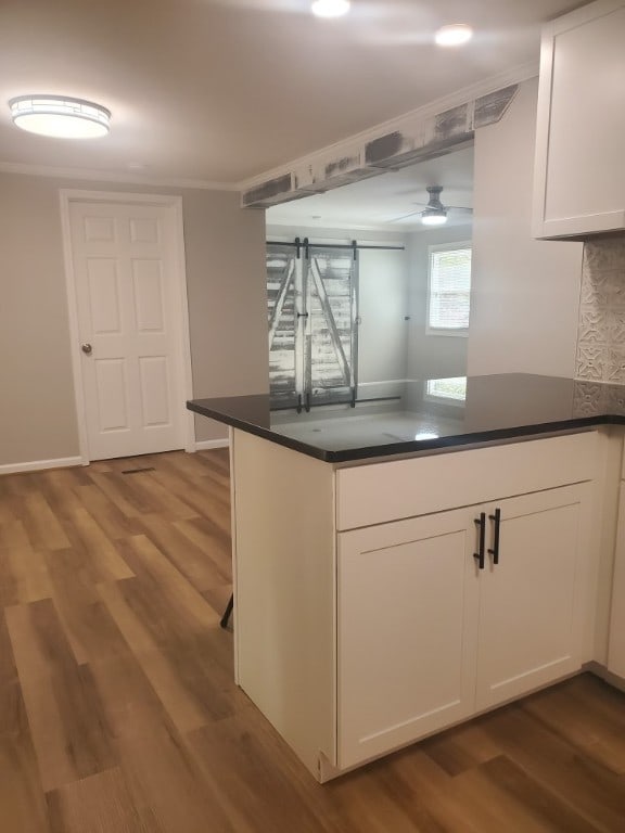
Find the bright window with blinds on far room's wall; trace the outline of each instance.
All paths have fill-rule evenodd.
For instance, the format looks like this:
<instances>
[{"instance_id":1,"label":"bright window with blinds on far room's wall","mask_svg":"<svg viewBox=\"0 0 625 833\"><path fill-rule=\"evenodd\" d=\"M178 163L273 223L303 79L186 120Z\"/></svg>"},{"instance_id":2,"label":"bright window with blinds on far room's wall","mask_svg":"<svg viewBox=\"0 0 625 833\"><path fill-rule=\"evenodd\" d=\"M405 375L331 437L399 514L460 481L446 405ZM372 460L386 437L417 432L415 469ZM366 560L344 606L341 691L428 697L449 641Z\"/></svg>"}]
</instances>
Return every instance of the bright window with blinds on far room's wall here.
<instances>
[{"instance_id":1,"label":"bright window with blinds on far room's wall","mask_svg":"<svg viewBox=\"0 0 625 833\"><path fill-rule=\"evenodd\" d=\"M471 296L471 243L430 246L428 332L467 335Z\"/></svg>"}]
</instances>

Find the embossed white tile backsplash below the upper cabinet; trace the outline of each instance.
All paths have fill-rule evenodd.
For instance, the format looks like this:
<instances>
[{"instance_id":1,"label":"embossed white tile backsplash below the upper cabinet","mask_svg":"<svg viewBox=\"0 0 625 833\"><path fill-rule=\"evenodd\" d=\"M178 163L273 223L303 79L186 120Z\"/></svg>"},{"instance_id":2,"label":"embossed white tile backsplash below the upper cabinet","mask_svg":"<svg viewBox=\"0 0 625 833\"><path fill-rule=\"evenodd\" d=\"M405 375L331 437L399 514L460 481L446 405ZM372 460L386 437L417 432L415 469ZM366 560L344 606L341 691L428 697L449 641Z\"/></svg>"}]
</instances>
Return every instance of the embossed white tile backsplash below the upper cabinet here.
<instances>
[{"instance_id":1,"label":"embossed white tile backsplash below the upper cabinet","mask_svg":"<svg viewBox=\"0 0 625 833\"><path fill-rule=\"evenodd\" d=\"M625 238L584 246L575 375L625 384Z\"/></svg>"}]
</instances>

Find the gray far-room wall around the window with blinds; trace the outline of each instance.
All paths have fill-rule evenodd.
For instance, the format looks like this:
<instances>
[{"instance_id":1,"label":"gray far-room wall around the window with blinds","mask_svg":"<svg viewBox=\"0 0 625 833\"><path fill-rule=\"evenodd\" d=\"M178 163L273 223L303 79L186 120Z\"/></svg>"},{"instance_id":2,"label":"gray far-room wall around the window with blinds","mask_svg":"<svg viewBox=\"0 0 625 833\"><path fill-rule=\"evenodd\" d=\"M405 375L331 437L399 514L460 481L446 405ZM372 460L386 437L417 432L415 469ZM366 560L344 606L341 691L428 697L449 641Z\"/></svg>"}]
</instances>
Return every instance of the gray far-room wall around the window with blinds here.
<instances>
[{"instance_id":1,"label":"gray far-room wall around the window with blinds","mask_svg":"<svg viewBox=\"0 0 625 833\"><path fill-rule=\"evenodd\" d=\"M429 247L460 243L472 238L471 225L418 231L410 235L410 332L408 375L410 379L436 379L467 374L468 336L433 335L428 325ZM472 323L472 322L471 322ZM471 324L469 328L471 333Z\"/></svg>"}]
</instances>

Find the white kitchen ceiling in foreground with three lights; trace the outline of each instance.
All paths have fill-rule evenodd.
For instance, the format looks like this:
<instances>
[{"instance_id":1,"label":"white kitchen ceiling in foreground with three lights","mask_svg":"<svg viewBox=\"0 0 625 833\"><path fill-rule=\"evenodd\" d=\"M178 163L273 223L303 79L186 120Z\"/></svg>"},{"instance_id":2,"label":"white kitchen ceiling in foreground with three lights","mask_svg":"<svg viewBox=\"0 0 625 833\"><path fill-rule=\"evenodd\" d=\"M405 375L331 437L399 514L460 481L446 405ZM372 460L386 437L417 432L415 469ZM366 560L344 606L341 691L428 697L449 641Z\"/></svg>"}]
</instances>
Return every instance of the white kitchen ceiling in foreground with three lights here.
<instances>
[{"instance_id":1,"label":"white kitchen ceiling in foreground with three lights","mask_svg":"<svg viewBox=\"0 0 625 833\"><path fill-rule=\"evenodd\" d=\"M571 0L0 0L0 165L239 183L528 61ZM471 24L467 47L434 30ZM4 102L65 93L113 112L79 143L13 127Z\"/></svg>"}]
</instances>

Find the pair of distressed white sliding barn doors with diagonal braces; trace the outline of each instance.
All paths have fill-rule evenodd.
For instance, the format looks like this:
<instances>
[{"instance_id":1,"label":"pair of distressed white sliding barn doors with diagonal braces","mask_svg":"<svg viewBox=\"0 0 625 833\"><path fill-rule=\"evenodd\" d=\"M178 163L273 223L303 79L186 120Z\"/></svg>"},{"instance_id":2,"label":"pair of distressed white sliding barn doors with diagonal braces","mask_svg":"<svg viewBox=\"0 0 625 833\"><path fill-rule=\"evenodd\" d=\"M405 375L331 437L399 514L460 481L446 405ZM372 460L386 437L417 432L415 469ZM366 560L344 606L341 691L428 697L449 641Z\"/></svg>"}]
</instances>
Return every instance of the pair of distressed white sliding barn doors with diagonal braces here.
<instances>
[{"instance_id":1,"label":"pair of distressed white sliding barn doors with diagonal braces","mask_svg":"<svg viewBox=\"0 0 625 833\"><path fill-rule=\"evenodd\" d=\"M355 249L268 244L269 374L279 406L350 401L357 384Z\"/></svg>"}]
</instances>

